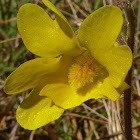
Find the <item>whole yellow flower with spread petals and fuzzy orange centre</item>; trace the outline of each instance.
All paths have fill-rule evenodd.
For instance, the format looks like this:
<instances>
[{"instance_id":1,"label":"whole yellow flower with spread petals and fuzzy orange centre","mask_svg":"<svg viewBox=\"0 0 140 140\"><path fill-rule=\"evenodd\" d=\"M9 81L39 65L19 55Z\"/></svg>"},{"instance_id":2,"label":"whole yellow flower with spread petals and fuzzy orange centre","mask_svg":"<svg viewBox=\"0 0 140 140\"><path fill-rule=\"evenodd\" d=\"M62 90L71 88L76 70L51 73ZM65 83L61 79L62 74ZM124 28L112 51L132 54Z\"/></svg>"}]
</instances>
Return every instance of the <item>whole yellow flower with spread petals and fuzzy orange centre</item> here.
<instances>
[{"instance_id":1,"label":"whole yellow flower with spread petals and fuzzy orange centre","mask_svg":"<svg viewBox=\"0 0 140 140\"><path fill-rule=\"evenodd\" d=\"M76 36L56 7L42 1L55 13L55 20L28 3L19 9L17 25L27 49L43 58L19 66L4 86L7 94L32 89L16 114L18 123L30 130L88 99L118 99L129 87L124 79L132 63L129 47L115 43L123 23L119 8L96 10L83 21Z\"/></svg>"}]
</instances>

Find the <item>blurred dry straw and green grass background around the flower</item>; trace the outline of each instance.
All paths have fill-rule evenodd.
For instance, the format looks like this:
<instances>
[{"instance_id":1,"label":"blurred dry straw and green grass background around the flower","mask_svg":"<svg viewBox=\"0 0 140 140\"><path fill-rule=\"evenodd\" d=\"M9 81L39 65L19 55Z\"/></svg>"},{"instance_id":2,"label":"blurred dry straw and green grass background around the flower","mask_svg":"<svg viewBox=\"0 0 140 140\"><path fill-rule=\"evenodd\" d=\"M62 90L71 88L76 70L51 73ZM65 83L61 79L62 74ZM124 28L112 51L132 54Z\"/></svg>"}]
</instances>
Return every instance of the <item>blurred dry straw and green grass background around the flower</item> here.
<instances>
[{"instance_id":1,"label":"blurred dry straw and green grass background around the flower","mask_svg":"<svg viewBox=\"0 0 140 140\"><path fill-rule=\"evenodd\" d=\"M16 121L16 109L28 91L6 95L6 77L20 64L36 58L29 52L17 30L16 16L25 3L35 3L54 18L41 0L0 0L0 140L123 140L123 96L89 100L66 110L55 122L34 131L25 130ZM112 0L51 0L66 16L74 31L96 9L112 4ZM132 78L132 128L134 140L140 140L140 0L131 0L136 17L134 66ZM127 31L127 23L122 34Z\"/></svg>"}]
</instances>

